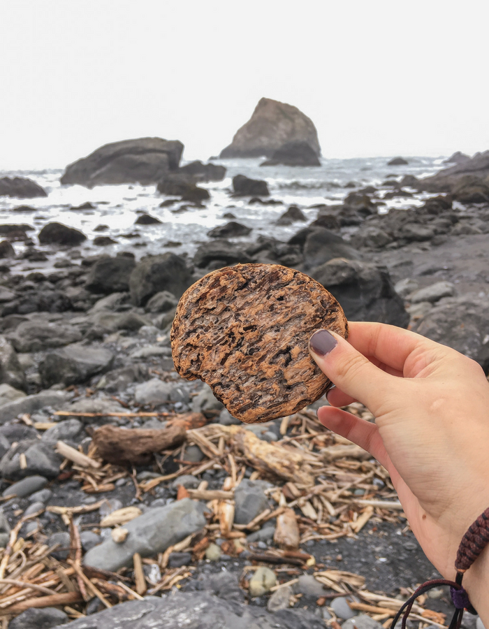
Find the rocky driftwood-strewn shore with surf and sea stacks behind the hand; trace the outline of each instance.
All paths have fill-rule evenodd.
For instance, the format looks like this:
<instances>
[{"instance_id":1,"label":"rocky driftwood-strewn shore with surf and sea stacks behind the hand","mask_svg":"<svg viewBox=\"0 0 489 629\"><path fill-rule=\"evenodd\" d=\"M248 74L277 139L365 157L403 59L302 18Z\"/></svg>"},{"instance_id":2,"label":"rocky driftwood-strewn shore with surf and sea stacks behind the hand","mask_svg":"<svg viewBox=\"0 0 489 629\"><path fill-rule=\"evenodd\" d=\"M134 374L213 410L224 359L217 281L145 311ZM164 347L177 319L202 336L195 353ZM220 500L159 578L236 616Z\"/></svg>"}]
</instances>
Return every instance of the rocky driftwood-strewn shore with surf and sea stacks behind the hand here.
<instances>
[{"instance_id":1,"label":"rocky driftwood-strewn shore with surf and sea stacks behind the hand","mask_svg":"<svg viewBox=\"0 0 489 629\"><path fill-rule=\"evenodd\" d=\"M270 99L219 157L183 150L0 173L2 626L386 628L437 572L384 468L319 424L326 399L241 424L177 375L170 327L211 270L278 263L487 374L489 151L325 159ZM432 591L408 626L450 609Z\"/></svg>"}]
</instances>

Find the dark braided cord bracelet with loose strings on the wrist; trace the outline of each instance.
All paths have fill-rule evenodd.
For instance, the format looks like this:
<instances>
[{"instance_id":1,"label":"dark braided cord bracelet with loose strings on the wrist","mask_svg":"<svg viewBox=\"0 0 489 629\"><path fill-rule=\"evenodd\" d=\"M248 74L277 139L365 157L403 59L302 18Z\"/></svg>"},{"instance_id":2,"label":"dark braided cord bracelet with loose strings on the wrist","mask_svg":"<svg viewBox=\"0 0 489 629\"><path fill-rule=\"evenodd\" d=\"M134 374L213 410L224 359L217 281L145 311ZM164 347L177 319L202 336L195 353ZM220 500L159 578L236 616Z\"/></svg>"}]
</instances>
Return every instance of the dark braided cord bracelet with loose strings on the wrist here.
<instances>
[{"instance_id":1,"label":"dark braided cord bracelet with loose strings on the wrist","mask_svg":"<svg viewBox=\"0 0 489 629\"><path fill-rule=\"evenodd\" d=\"M401 614L403 614L402 629L406 629L407 618L411 613L416 598L438 586L450 586L451 599L455 606L455 613L448 629L460 629L465 610L471 614L477 614L469 600L467 591L462 587L462 579L464 573L469 570L469 567L476 561L476 558L479 557L487 544L489 544L489 507L469 526L467 533L462 537L457 557L455 558L455 570L457 571L455 581L432 579L423 583L397 612L395 619L392 621L391 629L395 628Z\"/></svg>"}]
</instances>

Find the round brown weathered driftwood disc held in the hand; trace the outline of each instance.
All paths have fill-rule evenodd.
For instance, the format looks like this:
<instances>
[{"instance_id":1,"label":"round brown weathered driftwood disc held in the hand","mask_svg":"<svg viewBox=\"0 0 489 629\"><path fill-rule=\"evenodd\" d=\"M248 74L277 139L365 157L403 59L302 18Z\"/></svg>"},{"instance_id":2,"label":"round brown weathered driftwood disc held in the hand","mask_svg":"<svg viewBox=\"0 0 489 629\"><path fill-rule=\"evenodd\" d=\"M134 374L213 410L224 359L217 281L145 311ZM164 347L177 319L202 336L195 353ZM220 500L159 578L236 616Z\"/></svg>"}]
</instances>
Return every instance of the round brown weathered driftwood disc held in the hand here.
<instances>
[{"instance_id":1,"label":"round brown weathered driftwood disc held in the hand","mask_svg":"<svg viewBox=\"0 0 489 629\"><path fill-rule=\"evenodd\" d=\"M319 282L277 264L238 264L205 275L180 299L173 362L182 377L207 382L233 417L269 421L328 390L307 347L319 328L348 335L340 304Z\"/></svg>"}]
</instances>

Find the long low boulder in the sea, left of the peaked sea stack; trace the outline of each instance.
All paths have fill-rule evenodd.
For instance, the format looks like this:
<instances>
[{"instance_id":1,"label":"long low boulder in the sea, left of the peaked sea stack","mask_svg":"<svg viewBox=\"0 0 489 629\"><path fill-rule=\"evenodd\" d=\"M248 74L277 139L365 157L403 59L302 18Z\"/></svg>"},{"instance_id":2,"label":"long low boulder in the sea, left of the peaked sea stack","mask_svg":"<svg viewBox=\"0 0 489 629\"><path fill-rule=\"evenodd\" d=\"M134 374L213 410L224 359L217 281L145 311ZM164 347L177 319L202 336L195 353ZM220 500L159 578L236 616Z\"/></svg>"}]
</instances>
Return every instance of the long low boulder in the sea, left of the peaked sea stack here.
<instances>
[{"instance_id":1,"label":"long low boulder in the sea, left of the peaked sea stack","mask_svg":"<svg viewBox=\"0 0 489 629\"><path fill-rule=\"evenodd\" d=\"M183 144L178 140L139 138L105 144L78 159L61 177L62 184L91 188L124 183L155 184L178 168Z\"/></svg>"}]
</instances>

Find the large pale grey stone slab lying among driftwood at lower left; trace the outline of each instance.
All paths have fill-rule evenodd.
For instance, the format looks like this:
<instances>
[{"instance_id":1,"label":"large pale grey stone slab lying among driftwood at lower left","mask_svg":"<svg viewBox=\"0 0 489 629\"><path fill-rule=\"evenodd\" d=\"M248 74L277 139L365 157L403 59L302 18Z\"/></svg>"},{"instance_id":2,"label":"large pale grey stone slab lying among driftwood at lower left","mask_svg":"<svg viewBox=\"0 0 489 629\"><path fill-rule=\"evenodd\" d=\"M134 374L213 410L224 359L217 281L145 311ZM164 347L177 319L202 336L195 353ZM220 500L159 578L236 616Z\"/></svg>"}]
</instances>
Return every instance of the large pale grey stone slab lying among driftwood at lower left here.
<instances>
[{"instance_id":1,"label":"large pale grey stone slab lying among driftwood at lower left","mask_svg":"<svg viewBox=\"0 0 489 629\"><path fill-rule=\"evenodd\" d=\"M122 544L116 544L112 539L105 540L88 551L83 561L85 565L115 572L123 566L130 566L134 553L143 557L161 553L205 526L203 509L205 505L189 498L167 507L148 509L124 525L129 535Z\"/></svg>"}]
</instances>

